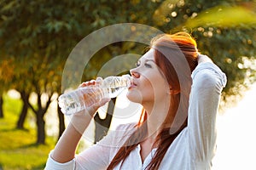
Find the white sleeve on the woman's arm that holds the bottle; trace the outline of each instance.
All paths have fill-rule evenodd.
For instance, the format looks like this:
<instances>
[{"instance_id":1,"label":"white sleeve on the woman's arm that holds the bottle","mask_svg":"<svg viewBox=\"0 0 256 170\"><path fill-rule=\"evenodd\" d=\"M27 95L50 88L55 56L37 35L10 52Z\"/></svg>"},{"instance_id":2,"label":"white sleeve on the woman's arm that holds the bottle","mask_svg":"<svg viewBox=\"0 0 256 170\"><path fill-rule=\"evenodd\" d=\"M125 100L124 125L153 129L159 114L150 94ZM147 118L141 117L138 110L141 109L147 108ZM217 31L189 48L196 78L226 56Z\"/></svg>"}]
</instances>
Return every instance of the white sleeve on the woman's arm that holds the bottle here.
<instances>
[{"instance_id":1,"label":"white sleeve on the woman's arm that holds the bottle","mask_svg":"<svg viewBox=\"0 0 256 170\"><path fill-rule=\"evenodd\" d=\"M91 170L107 169L125 139L130 136L132 124L119 125L115 131L108 133L101 141L82 151L72 161L59 163L50 157L45 170ZM129 132L129 133L127 133Z\"/></svg>"}]
</instances>

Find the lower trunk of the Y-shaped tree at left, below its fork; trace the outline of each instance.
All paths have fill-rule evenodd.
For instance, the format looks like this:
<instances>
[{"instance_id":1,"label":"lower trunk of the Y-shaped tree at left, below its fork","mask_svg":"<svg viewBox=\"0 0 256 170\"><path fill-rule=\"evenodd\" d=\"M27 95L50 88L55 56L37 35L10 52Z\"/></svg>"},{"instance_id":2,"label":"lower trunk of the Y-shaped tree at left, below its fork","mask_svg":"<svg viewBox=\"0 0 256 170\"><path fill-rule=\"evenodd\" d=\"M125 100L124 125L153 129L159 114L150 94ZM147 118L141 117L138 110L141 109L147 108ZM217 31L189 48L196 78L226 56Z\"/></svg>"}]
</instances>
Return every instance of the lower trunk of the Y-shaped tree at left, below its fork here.
<instances>
[{"instance_id":1,"label":"lower trunk of the Y-shaped tree at left, below its fork","mask_svg":"<svg viewBox=\"0 0 256 170\"><path fill-rule=\"evenodd\" d=\"M37 144L45 144L44 111L39 110L37 115L38 140Z\"/></svg>"}]
</instances>

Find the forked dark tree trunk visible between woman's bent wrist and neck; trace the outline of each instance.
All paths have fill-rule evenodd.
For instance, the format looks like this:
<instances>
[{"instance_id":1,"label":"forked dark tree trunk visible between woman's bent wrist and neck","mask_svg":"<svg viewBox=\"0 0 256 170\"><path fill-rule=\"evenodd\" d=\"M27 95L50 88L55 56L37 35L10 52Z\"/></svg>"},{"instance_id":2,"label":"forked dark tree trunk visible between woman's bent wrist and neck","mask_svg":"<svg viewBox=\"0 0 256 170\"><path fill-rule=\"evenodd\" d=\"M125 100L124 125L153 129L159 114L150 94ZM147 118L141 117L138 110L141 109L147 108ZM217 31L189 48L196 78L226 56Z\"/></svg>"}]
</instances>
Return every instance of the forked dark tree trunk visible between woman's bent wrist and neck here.
<instances>
[{"instance_id":1,"label":"forked dark tree trunk visible between woman's bent wrist and neck","mask_svg":"<svg viewBox=\"0 0 256 170\"><path fill-rule=\"evenodd\" d=\"M95 126L96 126L95 137L94 137L95 144L108 133L108 129L110 127L112 117L113 117L115 100L116 98L111 99L111 101L108 103L108 111L106 113L107 116L105 119L101 119L101 117L99 116L99 113L96 113L96 116L94 117Z\"/></svg>"}]
</instances>

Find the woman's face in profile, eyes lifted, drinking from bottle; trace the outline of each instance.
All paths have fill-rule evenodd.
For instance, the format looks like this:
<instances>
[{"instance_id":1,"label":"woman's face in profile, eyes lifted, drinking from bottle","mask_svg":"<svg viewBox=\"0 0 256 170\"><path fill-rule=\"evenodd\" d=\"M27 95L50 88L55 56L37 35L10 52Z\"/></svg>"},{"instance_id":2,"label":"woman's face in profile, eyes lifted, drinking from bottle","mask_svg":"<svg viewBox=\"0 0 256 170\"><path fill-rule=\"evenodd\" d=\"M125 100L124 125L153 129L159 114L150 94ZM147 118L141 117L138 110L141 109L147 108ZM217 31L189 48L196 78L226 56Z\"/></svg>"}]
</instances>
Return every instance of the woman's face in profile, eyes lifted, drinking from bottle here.
<instances>
[{"instance_id":1,"label":"woman's face in profile, eyes lifted, drinking from bottle","mask_svg":"<svg viewBox=\"0 0 256 170\"><path fill-rule=\"evenodd\" d=\"M165 102L169 85L154 62L154 48L138 59L137 67L131 69L131 77L127 98L132 102L142 105Z\"/></svg>"}]
</instances>

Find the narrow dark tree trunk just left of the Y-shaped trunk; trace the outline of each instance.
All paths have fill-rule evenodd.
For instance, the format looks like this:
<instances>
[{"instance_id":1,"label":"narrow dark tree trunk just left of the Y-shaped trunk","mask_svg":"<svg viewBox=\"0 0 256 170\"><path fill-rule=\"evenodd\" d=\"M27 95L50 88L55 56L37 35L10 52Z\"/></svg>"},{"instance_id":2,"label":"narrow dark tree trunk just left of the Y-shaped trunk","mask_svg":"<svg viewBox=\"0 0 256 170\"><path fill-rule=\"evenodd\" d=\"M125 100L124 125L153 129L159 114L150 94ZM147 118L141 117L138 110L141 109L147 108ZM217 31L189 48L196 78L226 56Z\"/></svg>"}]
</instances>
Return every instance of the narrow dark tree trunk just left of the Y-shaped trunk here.
<instances>
[{"instance_id":1,"label":"narrow dark tree trunk just left of the Y-shaped trunk","mask_svg":"<svg viewBox=\"0 0 256 170\"><path fill-rule=\"evenodd\" d=\"M28 111L28 99L29 99L29 94L26 94L25 91L20 92L21 99L23 101L23 106L22 110L20 112L19 120L17 122L17 128L24 129L24 122L26 120L26 115Z\"/></svg>"}]
</instances>

